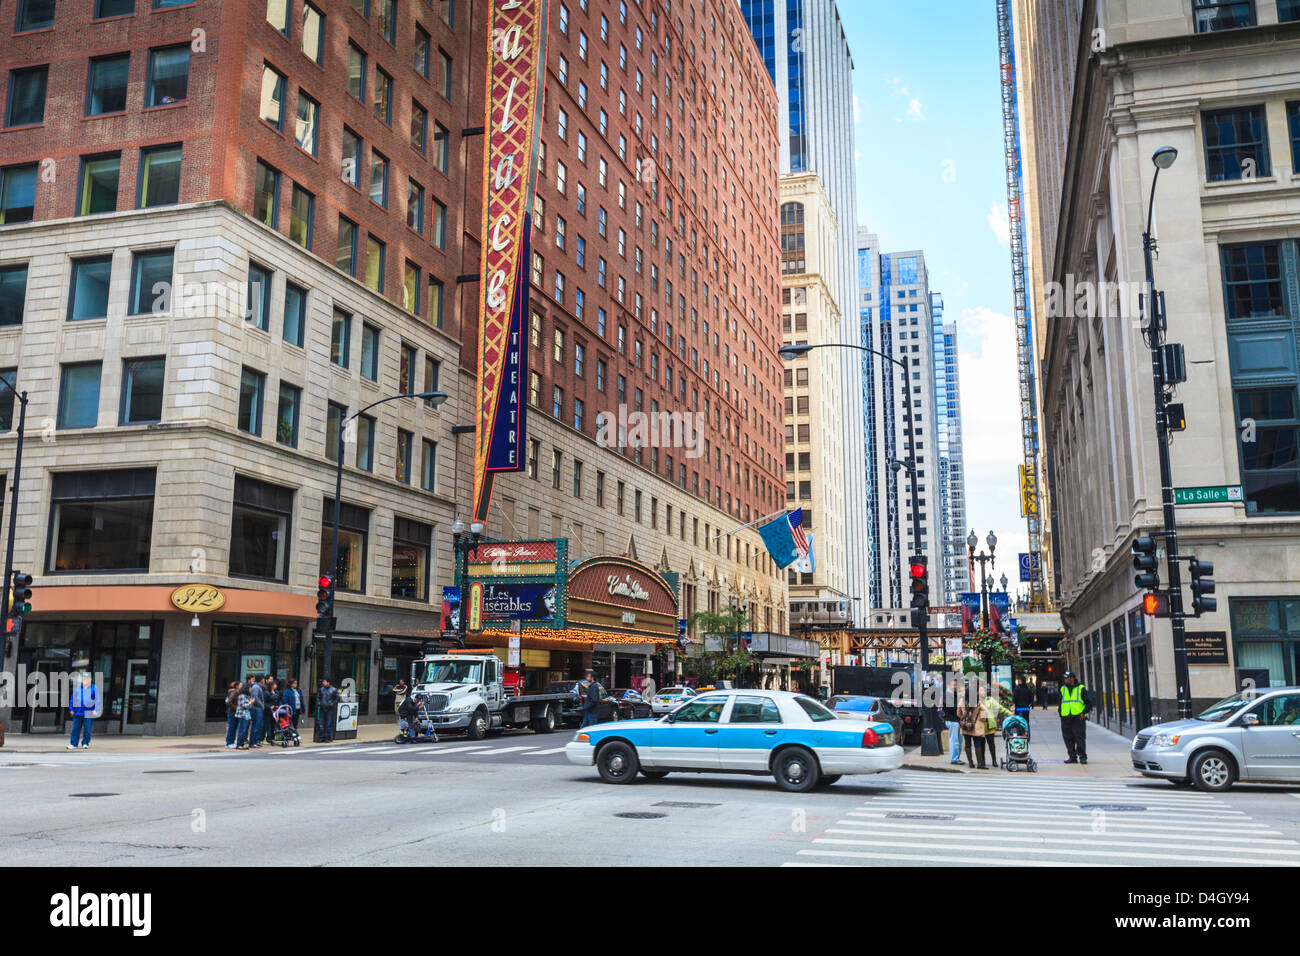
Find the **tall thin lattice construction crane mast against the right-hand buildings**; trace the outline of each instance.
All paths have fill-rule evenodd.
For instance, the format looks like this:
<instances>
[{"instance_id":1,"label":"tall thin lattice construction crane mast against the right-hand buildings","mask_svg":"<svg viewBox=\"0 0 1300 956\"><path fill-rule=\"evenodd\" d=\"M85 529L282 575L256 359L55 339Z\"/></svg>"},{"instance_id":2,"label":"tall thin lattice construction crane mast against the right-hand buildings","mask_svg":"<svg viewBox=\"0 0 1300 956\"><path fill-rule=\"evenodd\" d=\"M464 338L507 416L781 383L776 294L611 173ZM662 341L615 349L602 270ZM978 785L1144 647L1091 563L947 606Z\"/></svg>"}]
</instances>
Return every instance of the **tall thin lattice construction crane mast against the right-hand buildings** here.
<instances>
[{"instance_id":1,"label":"tall thin lattice construction crane mast against the right-hand buildings","mask_svg":"<svg viewBox=\"0 0 1300 956\"><path fill-rule=\"evenodd\" d=\"M1002 70L1002 140L1006 153L1006 215L1015 302L1015 350L1020 385L1020 511L1030 538L1030 607L1043 610L1043 522L1039 509L1039 408L1034 381L1034 326L1024 291L1024 222L1020 187L1020 124L1015 99L1015 43L1011 0L997 0L997 51Z\"/></svg>"}]
</instances>

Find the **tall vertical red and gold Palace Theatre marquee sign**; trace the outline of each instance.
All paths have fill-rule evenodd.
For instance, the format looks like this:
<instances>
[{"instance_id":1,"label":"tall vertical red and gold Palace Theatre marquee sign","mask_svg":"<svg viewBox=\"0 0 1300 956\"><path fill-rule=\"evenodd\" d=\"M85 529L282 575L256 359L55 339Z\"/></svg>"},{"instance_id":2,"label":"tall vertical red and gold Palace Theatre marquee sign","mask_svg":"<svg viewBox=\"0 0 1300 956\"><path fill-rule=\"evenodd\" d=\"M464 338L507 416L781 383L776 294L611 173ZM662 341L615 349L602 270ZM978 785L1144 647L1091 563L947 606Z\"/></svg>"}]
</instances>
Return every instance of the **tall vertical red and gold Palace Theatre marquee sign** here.
<instances>
[{"instance_id":1,"label":"tall vertical red and gold Palace Theatre marquee sign","mask_svg":"<svg viewBox=\"0 0 1300 956\"><path fill-rule=\"evenodd\" d=\"M546 0L491 0L484 130L484 224L478 282L474 423L476 520L488 519L493 477L524 467L528 261L546 70Z\"/></svg>"}]
</instances>

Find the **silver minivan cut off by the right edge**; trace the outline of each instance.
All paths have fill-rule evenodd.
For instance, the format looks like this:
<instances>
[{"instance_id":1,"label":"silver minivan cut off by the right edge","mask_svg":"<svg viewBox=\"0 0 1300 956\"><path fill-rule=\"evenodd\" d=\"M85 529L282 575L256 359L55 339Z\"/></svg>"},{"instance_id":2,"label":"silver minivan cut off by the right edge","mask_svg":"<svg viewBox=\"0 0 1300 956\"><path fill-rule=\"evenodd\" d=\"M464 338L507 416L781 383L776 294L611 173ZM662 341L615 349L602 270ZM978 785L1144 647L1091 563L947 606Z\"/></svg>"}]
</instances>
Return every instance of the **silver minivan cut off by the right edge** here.
<instances>
[{"instance_id":1,"label":"silver minivan cut off by the right edge","mask_svg":"<svg viewBox=\"0 0 1300 956\"><path fill-rule=\"evenodd\" d=\"M1191 719L1144 727L1131 754L1144 777L1210 792L1236 780L1300 783L1300 687L1236 693Z\"/></svg>"}]
</instances>

